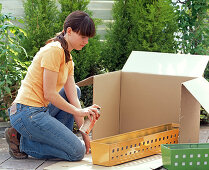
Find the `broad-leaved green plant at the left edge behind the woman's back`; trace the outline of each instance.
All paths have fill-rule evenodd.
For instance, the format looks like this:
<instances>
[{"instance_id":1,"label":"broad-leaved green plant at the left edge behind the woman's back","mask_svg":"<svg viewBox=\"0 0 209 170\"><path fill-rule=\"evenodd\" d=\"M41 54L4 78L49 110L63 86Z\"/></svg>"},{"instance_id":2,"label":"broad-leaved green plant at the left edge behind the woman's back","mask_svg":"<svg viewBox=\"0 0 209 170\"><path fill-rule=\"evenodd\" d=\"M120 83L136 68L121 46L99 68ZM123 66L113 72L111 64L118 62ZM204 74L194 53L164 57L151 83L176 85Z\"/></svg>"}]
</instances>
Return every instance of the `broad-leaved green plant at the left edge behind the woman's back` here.
<instances>
[{"instance_id":1,"label":"broad-leaved green plant at the left edge behind the woman's back","mask_svg":"<svg viewBox=\"0 0 209 170\"><path fill-rule=\"evenodd\" d=\"M20 81L26 73L29 62L20 42L25 39L22 29L12 24L14 17L0 14L0 117L7 120L7 108L16 97ZM22 21L21 21L22 22ZM20 58L20 53L25 56Z\"/></svg>"}]
</instances>

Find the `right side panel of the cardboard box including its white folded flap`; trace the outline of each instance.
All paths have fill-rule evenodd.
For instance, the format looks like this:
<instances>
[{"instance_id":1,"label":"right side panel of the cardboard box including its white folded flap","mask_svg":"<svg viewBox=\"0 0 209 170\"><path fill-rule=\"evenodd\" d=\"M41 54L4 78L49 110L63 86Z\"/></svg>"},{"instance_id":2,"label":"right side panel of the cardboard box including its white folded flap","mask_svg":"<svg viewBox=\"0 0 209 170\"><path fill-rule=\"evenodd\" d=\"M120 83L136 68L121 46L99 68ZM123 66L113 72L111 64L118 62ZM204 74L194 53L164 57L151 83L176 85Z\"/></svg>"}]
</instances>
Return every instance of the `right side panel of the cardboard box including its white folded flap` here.
<instances>
[{"instance_id":1,"label":"right side panel of the cardboard box including its white folded flap","mask_svg":"<svg viewBox=\"0 0 209 170\"><path fill-rule=\"evenodd\" d=\"M209 82L196 78L182 84L180 142L199 141L200 105L209 112Z\"/></svg>"}]
</instances>

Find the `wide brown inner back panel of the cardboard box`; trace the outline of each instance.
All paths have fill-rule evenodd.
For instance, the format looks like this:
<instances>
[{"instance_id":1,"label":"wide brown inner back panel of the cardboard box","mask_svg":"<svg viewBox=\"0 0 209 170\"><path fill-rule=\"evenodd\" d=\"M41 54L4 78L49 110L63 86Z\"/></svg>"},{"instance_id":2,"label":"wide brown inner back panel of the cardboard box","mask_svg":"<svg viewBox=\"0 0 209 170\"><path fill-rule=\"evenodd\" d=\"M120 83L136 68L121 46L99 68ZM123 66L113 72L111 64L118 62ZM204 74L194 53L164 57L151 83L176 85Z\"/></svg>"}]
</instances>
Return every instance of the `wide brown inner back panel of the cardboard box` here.
<instances>
[{"instance_id":1,"label":"wide brown inner back panel of the cardboard box","mask_svg":"<svg viewBox=\"0 0 209 170\"><path fill-rule=\"evenodd\" d=\"M179 123L181 83L190 79L122 72L120 133Z\"/></svg>"}]
</instances>

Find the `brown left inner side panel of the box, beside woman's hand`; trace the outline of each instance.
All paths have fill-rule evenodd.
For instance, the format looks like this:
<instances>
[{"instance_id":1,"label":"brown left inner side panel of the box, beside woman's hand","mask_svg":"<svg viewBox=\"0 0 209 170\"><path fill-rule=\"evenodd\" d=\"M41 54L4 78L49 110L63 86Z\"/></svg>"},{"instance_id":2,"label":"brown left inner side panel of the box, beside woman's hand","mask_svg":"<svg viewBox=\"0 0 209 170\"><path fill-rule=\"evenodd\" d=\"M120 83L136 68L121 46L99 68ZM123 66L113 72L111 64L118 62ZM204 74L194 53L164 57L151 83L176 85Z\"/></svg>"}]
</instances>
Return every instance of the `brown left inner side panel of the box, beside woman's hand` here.
<instances>
[{"instance_id":1,"label":"brown left inner side panel of the box, beside woman's hand","mask_svg":"<svg viewBox=\"0 0 209 170\"><path fill-rule=\"evenodd\" d=\"M121 71L94 77L93 103L101 106L101 116L95 124L93 139L119 133Z\"/></svg>"}]
</instances>

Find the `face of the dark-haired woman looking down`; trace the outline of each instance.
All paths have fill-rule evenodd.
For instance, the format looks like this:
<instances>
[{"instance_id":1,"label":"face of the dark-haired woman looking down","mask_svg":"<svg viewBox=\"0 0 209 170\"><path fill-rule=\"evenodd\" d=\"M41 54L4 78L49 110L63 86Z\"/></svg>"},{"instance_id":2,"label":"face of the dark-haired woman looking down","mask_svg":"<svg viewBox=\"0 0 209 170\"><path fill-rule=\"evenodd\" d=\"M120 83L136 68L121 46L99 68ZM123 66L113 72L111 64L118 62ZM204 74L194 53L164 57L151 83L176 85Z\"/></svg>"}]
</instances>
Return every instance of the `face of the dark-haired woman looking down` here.
<instances>
[{"instance_id":1,"label":"face of the dark-haired woman looking down","mask_svg":"<svg viewBox=\"0 0 209 170\"><path fill-rule=\"evenodd\" d=\"M82 50L82 48L88 44L89 37L82 36L79 33L76 33L74 31L70 31L68 33L68 44L71 48L71 50Z\"/></svg>"}]
</instances>

